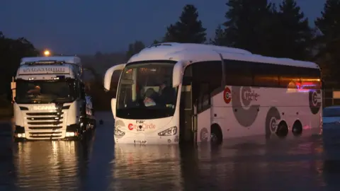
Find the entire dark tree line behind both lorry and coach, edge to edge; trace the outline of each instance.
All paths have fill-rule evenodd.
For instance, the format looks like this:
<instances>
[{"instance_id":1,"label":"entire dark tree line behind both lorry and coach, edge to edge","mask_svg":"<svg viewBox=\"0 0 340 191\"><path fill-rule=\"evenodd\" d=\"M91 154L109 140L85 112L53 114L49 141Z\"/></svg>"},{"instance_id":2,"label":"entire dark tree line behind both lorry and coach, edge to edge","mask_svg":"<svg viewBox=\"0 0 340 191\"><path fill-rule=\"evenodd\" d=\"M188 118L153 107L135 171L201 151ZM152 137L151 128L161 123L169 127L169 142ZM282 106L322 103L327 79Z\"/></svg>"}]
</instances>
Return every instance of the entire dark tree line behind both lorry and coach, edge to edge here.
<instances>
[{"instance_id":1,"label":"entire dark tree line behind both lorry and coach, edge to edge","mask_svg":"<svg viewBox=\"0 0 340 191\"><path fill-rule=\"evenodd\" d=\"M340 0L327 0L321 15L315 19L314 26L301 11L295 0L283 0L280 4L268 3L267 0L229 0L226 3L225 22L215 30L215 37L208 39L206 28L199 19L198 9L192 4L183 7L178 21L166 28L160 42L205 43L249 50L254 54L269 57L317 62L322 68L325 85L340 86L337 75L340 71ZM126 62L133 54L145 48L137 40L128 45L125 53L84 56L84 65L88 66L96 77L91 83L96 84L94 97L102 100L101 75L112 64ZM25 38L13 40L0 32L0 95L10 98L9 84L15 75L21 57L37 56L39 51ZM93 68L106 63L102 69ZM92 88L94 90L94 88ZM100 91L103 92L103 91ZM8 96L9 95L9 96ZM108 98L109 99L109 98ZM103 100L104 101L104 100ZM106 101L106 100L105 100ZM1 100L0 100L1 102ZM107 102L106 102L107 103ZM103 105L108 105L104 104ZM0 105L1 106L1 105ZM109 108L109 107L108 107Z\"/></svg>"}]
</instances>

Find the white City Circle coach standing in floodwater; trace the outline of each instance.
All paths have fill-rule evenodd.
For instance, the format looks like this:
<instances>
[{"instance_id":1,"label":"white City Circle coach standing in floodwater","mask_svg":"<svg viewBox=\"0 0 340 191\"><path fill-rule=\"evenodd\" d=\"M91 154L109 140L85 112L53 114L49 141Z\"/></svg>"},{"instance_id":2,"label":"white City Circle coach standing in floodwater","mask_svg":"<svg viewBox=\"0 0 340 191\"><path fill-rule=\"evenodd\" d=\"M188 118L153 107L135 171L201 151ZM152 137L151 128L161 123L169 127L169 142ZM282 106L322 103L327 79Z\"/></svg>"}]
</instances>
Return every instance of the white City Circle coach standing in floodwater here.
<instances>
[{"instance_id":1,"label":"white City Circle coach standing in floodwater","mask_svg":"<svg viewBox=\"0 0 340 191\"><path fill-rule=\"evenodd\" d=\"M322 131L317 64L213 45L162 43L106 71L120 72L115 143L178 144ZM164 88L165 86L165 88Z\"/></svg>"}]
</instances>

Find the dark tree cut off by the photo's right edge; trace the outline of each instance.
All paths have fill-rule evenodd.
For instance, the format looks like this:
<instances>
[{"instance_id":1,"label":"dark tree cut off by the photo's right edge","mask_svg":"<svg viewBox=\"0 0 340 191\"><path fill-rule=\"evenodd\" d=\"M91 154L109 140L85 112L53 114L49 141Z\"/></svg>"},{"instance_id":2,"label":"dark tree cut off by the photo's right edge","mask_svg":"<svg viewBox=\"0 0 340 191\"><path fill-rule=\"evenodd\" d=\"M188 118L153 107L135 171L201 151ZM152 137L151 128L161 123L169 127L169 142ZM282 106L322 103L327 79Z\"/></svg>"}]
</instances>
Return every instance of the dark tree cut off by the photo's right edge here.
<instances>
[{"instance_id":1,"label":"dark tree cut off by the photo's right edge","mask_svg":"<svg viewBox=\"0 0 340 191\"><path fill-rule=\"evenodd\" d=\"M327 0L322 16L315 20L321 31L317 59L326 81L340 83L340 0Z\"/></svg>"}]
</instances>

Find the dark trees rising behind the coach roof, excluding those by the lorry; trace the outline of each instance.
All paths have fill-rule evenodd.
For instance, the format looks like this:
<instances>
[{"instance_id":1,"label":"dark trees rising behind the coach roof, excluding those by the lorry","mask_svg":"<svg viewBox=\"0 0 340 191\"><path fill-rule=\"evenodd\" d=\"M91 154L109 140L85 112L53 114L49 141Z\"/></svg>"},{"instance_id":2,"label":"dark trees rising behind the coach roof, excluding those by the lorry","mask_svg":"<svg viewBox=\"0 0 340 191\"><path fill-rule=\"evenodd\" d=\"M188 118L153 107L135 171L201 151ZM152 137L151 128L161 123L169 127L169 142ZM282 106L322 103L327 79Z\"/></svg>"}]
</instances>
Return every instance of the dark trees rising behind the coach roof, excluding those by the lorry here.
<instances>
[{"instance_id":1,"label":"dark trees rising behind the coach roof, excluding those by the lorry","mask_svg":"<svg viewBox=\"0 0 340 191\"><path fill-rule=\"evenodd\" d=\"M340 0L327 0L324 10L310 25L295 0L280 4L266 0L229 0L225 22L208 39L196 6L187 4L176 23L167 27L159 42L205 43L249 50L268 57L317 62L326 85L340 86ZM129 45L130 57L144 48Z\"/></svg>"}]
</instances>

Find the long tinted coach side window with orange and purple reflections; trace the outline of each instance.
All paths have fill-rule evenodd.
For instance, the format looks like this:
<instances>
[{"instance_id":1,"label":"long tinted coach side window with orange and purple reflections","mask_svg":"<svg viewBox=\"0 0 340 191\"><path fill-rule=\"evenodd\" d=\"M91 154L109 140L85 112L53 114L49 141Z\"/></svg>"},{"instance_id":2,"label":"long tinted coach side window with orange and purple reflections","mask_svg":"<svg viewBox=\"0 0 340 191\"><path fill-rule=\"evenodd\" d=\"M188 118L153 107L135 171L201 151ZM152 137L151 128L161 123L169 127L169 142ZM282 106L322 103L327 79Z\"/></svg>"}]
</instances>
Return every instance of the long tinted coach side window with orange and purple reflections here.
<instances>
[{"instance_id":1,"label":"long tinted coach side window with orange and purple reflections","mask_svg":"<svg viewBox=\"0 0 340 191\"><path fill-rule=\"evenodd\" d=\"M225 59L225 81L229 86L278 88L321 87L319 69Z\"/></svg>"}]
</instances>

